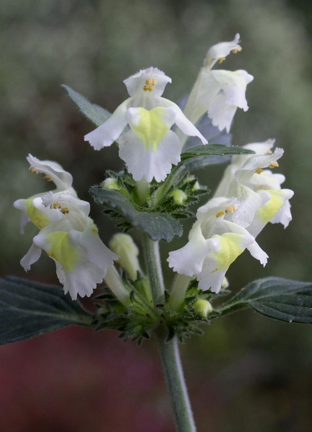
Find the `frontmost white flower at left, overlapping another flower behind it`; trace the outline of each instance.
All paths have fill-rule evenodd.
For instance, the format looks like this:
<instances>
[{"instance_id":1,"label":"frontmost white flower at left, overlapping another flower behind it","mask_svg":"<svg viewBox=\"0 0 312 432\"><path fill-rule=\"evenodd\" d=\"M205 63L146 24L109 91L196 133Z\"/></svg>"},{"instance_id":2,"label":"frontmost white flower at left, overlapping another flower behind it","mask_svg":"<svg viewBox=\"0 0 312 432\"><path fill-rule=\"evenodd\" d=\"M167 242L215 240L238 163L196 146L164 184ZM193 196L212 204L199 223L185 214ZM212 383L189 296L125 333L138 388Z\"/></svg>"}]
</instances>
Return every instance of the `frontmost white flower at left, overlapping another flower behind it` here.
<instances>
[{"instance_id":1,"label":"frontmost white flower at left, overlapping another flower behind it","mask_svg":"<svg viewBox=\"0 0 312 432\"><path fill-rule=\"evenodd\" d=\"M52 192L39 199L54 222L44 226L33 238L32 247L21 260L22 267L28 271L43 249L55 261L65 294L69 292L72 300L78 294L89 297L118 255L99 238L97 227L88 217L88 202L70 194Z\"/></svg>"}]
</instances>

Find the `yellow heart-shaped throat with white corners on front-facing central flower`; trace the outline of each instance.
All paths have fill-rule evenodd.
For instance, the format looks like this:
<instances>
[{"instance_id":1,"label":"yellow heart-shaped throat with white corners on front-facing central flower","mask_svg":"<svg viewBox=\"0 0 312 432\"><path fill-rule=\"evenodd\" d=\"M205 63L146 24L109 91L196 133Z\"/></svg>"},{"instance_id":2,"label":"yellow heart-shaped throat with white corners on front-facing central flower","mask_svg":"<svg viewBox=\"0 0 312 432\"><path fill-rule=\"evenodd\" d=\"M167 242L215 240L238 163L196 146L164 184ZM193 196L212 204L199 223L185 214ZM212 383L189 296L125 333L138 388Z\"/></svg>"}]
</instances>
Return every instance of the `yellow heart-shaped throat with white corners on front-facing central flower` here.
<instances>
[{"instance_id":1,"label":"yellow heart-shaped throat with white corners on front-facing central flower","mask_svg":"<svg viewBox=\"0 0 312 432\"><path fill-rule=\"evenodd\" d=\"M139 136L146 149L154 152L174 123L173 110L157 107L148 111L145 108L129 108L129 125Z\"/></svg>"}]
</instances>

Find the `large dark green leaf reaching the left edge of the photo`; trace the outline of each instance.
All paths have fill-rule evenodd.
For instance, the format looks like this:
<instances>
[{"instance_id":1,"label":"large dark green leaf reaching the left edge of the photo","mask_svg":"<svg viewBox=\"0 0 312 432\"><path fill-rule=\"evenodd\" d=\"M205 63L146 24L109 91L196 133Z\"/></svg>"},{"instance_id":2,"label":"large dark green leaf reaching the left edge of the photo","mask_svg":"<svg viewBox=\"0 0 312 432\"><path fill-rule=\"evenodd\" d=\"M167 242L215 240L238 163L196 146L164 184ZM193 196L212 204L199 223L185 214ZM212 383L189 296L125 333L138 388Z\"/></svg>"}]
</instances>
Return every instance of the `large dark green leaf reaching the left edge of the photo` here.
<instances>
[{"instance_id":1,"label":"large dark green leaf reaching the left edge of the photo","mask_svg":"<svg viewBox=\"0 0 312 432\"><path fill-rule=\"evenodd\" d=\"M92 316L59 286L14 276L1 278L0 344L19 342L77 324L89 326Z\"/></svg>"}]
</instances>

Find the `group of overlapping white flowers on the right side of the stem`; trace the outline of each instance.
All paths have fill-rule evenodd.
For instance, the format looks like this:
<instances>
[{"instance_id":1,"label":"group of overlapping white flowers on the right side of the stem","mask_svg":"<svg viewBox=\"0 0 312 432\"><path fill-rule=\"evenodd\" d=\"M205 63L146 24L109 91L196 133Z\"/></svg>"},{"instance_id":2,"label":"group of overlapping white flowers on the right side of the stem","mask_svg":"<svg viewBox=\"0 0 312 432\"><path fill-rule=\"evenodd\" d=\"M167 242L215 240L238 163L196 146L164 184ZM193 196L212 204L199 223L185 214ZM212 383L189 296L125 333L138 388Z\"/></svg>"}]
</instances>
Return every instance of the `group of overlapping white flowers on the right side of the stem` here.
<instances>
[{"instance_id":1,"label":"group of overlapping white flowers on the right side of the stem","mask_svg":"<svg viewBox=\"0 0 312 432\"><path fill-rule=\"evenodd\" d=\"M197 210L188 243L169 253L169 266L177 273L197 276L199 288L219 292L230 264L245 250L267 263L268 255L255 241L268 222L291 220L290 189L281 189L284 175L269 169L278 167L283 149L271 148L274 140L247 144L255 155L233 156L214 198Z\"/></svg>"}]
</instances>

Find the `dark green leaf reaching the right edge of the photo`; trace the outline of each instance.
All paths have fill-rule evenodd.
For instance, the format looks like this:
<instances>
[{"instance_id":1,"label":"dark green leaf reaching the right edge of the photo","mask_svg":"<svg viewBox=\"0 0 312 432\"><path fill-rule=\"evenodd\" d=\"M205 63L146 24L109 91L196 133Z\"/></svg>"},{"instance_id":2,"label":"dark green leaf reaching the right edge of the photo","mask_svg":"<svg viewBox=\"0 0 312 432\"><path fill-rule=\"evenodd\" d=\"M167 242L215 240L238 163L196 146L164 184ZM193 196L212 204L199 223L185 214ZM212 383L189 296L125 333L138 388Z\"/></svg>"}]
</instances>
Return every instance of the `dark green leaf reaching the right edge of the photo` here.
<instances>
[{"instance_id":1,"label":"dark green leaf reaching the right edge of the photo","mask_svg":"<svg viewBox=\"0 0 312 432\"><path fill-rule=\"evenodd\" d=\"M214 312L220 316L248 306L280 321L312 324L312 285L279 277L258 279Z\"/></svg>"}]
</instances>

